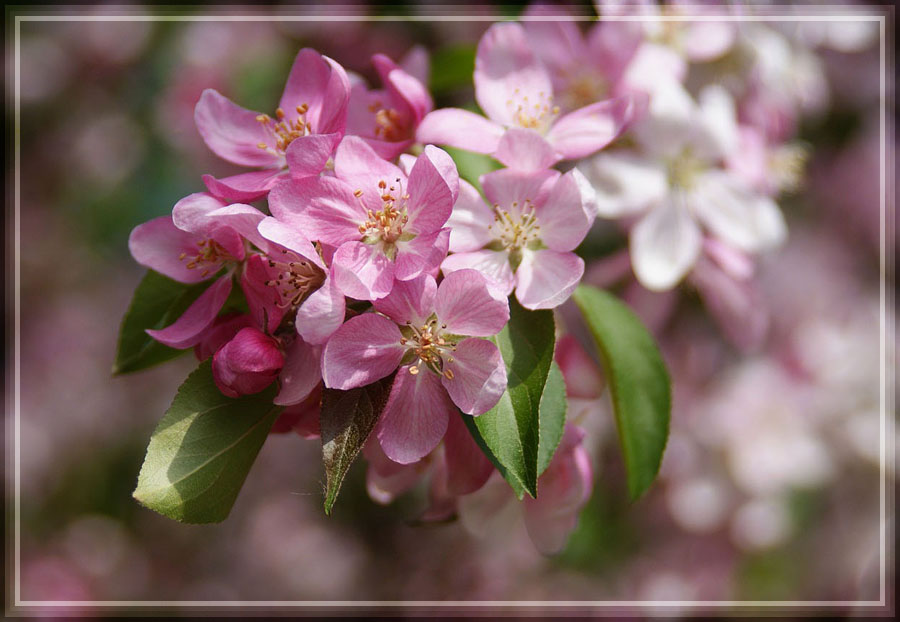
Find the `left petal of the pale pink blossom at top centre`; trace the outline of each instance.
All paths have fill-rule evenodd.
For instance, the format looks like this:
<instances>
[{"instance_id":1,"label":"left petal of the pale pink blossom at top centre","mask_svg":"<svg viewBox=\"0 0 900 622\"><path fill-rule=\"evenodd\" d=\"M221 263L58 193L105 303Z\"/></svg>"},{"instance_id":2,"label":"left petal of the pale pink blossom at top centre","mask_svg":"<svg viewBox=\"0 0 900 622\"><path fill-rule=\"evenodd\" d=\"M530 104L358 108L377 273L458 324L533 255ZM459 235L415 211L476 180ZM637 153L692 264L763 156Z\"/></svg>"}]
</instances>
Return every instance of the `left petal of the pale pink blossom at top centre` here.
<instances>
[{"instance_id":1,"label":"left petal of the pale pink blossom at top centre","mask_svg":"<svg viewBox=\"0 0 900 622\"><path fill-rule=\"evenodd\" d=\"M502 136L503 127L461 108L429 112L416 129L416 140L420 143L448 145L476 153L494 153Z\"/></svg>"}]
</instances>

